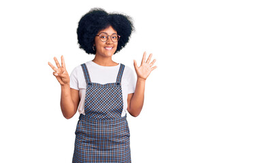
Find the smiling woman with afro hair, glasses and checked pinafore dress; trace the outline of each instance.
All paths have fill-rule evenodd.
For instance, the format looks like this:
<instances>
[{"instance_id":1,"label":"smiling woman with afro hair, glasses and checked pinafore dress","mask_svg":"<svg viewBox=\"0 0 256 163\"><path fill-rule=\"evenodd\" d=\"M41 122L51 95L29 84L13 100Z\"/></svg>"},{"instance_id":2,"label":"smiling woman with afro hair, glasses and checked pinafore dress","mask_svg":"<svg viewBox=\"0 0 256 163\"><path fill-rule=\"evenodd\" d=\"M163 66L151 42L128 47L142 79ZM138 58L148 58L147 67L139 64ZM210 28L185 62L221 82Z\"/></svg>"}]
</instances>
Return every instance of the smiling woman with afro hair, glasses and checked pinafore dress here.
<instances>
[{"instance_id":1,"label":"smiling woman with afro hair, glasses and checked pinafore dress","mask_svg":"<svg viewBox=\"0 0 256 163\"><path fill-rule=\"evenodd\" d=\"M125 47L133 31L129 16L93 9L80 19L78 43L95 58L76 67L69 78L63 56L53 75L61 84L61 111L69 119L80 113L76 126L73 162L131 162L127 111L134 117L144 103L146 78L156 60L143 54L138 67L114 62L112 56ZM78 107L79 106L79 107Z\"/></svg>"}]
</instances>

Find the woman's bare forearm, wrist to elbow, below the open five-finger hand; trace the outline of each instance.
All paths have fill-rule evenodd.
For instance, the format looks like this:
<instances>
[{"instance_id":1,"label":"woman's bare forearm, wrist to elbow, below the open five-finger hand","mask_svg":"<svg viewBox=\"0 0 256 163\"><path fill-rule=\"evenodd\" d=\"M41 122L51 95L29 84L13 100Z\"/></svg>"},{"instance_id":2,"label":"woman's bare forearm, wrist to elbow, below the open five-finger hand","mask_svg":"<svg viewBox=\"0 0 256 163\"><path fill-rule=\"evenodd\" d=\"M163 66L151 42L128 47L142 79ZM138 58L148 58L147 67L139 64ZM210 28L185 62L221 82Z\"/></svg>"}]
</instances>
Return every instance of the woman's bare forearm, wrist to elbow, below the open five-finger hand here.
<instances>
[{"instance_id":1,"label":"woman's bare forearm, wrist to elbow, below the open five-finger hand","mask_svg":"<svg viewBox=\"0 0 256 163\"><path fill-rule=\"evenodd\" d=\"M131 103L129 106L129 113L134 117L137 117L142 111L144 103L144 91L145 91L146 79L137 79L135 92L131 98Z\"/></svg>"}]
</instances>

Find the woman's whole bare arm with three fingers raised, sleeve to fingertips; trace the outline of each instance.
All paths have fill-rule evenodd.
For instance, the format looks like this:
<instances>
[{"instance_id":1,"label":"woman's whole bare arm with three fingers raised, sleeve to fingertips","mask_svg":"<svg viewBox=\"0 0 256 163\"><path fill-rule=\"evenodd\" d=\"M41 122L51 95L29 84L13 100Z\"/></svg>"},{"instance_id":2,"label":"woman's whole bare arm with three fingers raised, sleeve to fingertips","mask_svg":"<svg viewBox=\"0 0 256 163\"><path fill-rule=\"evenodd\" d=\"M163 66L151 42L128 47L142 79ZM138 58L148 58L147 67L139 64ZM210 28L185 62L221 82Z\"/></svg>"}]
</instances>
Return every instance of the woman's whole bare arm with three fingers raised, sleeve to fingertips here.
<instances>
[{"instance_id":1,"label":"woman's whole bare arm with three fingers raised, sleeve to fingertips","mask_svg":"<svg viewBox=\"0 0 256 163\"><path fill-rule=\"evenodd\" d=\"M54 57L54 61L58 68L54 67L50 62L48 62L48 65L52 67L54 70L53 75L61 84L61 111L63 116L69 119L76 114L78 109L79 91L71 89L69 86L70 79L65 68L64 57L61 56L61 66L56 57Z\"/></svg>"}]
</instances>

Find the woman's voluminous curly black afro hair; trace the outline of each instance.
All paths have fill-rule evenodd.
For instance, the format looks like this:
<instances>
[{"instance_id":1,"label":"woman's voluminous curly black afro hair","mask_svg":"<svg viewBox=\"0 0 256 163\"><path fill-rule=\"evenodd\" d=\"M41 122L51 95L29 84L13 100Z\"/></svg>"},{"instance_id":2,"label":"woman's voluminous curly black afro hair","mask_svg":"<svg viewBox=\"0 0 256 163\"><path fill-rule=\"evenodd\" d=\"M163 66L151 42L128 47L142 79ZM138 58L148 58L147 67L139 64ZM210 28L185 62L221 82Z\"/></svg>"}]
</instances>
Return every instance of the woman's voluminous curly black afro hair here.
<instances>
[{"instance_id":1,"label":"woman's voluminous curly black afro hair","mask_svg":"<svg viewBox=\"0 0 256 163\"><path fill-rule=\"evenodd\" d=\"M119 52L125 47L131 33L134 31L132 19L124 14L108 14L101 8L91 9L78 22L76 32L78 34L79 48L87 54L95 54L96 51L93 50L95 35L102 29L108 28L108 26L112 26L117 34L121 35L116 48L116 52Z\"/></svg>"}]
</instances>

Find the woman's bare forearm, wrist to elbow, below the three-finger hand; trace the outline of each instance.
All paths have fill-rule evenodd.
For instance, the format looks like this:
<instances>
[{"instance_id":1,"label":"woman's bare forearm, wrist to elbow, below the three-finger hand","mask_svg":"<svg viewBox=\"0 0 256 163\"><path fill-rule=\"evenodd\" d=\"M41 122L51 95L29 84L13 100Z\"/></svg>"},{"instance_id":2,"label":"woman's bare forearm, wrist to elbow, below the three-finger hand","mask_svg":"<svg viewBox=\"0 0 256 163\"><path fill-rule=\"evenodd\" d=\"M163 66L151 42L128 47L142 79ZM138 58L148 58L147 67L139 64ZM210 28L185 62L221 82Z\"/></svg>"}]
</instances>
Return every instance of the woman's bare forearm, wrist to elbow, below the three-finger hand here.
<instances>
[{"instance_id":1,"label":"woman's bare forearm, wrist to elbow, below the three-finger hand","mask_svg":"<svg viewBox=\"0 0 256 163\"><path fill-rule=\"evenodd\" d=\"M61 85L61 111L67 119L73 117L76 113L69 84Z\"/></svg>"}]
</instances>

